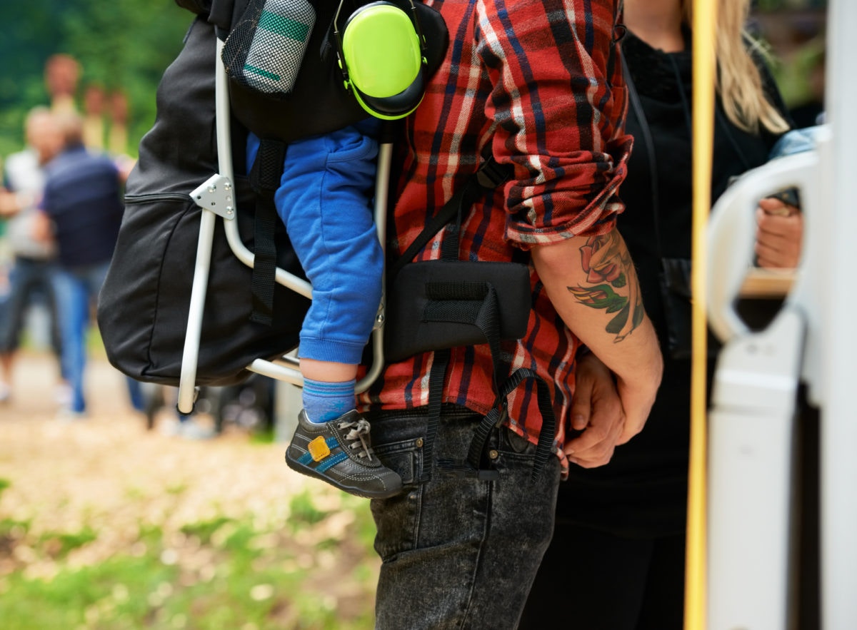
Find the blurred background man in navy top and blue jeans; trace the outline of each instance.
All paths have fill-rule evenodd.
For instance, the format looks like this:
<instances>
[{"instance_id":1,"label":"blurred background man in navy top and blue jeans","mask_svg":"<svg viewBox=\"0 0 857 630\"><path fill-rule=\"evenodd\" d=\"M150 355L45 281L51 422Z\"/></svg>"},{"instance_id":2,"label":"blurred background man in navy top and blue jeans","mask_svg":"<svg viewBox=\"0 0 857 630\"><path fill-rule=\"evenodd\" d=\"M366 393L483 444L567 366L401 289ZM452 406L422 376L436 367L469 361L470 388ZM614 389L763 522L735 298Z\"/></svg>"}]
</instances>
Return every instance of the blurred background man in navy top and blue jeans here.
<instances>
[{"instance_id":1,"label":"blurred background man in navy top and blue jeans","mask_svg":"<svg viewBox=\"0 0 857 630\"><path fill-rule=\"evenodd\" d=\"M56 114L64 148L46 169L42 209L57 239L54 288L63 338L63 374L69 379L72 418L87 412L84 367L90 310L98 298L122 223L122 175L111 158L83 146L83 121L74 112ZM143 407L139 383L129 380L131 401Z\"/></svg>"}]
</instances>

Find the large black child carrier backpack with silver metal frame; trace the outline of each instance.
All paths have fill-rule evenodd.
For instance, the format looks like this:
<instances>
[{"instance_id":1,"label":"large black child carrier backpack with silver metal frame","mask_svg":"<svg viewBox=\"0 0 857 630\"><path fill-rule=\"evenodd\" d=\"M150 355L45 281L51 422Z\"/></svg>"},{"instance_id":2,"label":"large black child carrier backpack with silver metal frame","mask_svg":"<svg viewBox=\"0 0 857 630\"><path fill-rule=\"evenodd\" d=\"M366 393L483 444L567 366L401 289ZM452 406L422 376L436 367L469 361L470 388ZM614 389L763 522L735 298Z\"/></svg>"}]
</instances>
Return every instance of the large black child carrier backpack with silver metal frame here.
<instances>
[{"instance_id":1,"label":"large black child carrier backpack with silver metal frame","mask_svg":"<svg viewBox=\"0 0 857 630\"><path fill-rule=\"evenodd\" d=\"M280 15L301 1L177 0L197 17L159 84L156 120L126 184L123 224L99 295L107 357L130 377L180 387L227 385L249 377L256 361L260 370L282 376L266 362L296 348L311 291L273 206L285 143L353 124L368 112L395 119L408 111L402 103L413 101L413 94L397 100L369 93L359 64L344 79L339 59L351 44L345 22L334 16L356 14L364 1L304 2L314 20ZM446 26L421 3L369 4L375 5L418 12L418 19L405 20L418 23L417 33L432 42L417 59L419 80L409 87L418 103L425 78L445 54ZM297 80L288 90L261 92L242 73L255 63L250 42L284 28L294 34L301 21L309 36ZM261 148L244 175L248 130L261 138ZM240 168L232 168L233 157ZM378 211L386 192L376 195ZM284 370L285 380L299 377ZM186 397L184 410L183 402Z\"/></svg>"}]
</instances>

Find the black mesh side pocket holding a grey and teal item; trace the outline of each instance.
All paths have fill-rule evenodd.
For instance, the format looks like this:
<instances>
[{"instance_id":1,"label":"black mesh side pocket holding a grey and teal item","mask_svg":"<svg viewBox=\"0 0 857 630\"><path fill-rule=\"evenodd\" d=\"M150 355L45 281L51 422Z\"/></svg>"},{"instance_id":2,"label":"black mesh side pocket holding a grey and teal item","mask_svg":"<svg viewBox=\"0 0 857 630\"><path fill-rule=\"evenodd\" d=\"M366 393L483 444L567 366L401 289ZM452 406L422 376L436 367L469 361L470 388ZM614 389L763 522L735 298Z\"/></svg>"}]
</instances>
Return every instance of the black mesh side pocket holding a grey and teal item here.
<instances>
[{"instance_id":1,"label":"black mesh side pocket holding a grey and teal item","mask_svg":"<svg viewBox=\"0 0 857 630\"><path fill-rule=\"evenodd\" d=\"M227 74L264 94L289 94L314 26L307 0L251 0L224 45Z\"/></svg>"}]
</instances>

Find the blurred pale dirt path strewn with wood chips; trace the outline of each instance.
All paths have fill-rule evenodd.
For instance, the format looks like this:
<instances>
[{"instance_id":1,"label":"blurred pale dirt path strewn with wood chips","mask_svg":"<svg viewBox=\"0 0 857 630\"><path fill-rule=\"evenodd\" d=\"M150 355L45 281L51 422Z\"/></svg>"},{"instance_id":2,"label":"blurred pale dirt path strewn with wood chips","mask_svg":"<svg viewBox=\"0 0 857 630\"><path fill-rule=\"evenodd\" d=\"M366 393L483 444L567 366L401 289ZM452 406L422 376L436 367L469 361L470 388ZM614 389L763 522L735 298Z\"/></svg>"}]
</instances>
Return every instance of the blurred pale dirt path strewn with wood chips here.
<instances>
[{"instance_id":1,"label":"blurred pale dirt path strewn with wood chips","mask_svg":"<svg viewBox=\"0 0 857 630\"><path fill-rule=\"evenodd\" d=\"M308 484L322 502L340 499L291 472L283 444L256 443L237 430L201 441L157 426L146 431L123 376L105 360L89 366L89 418L57 419L54 370L50 356L21 357L14 397L0 405L0 484L8 484L0 519L28 521L32 534L75 532L86 522L99 531L99 544L87 545L94 556L79 562L110 556L147 523L165 532L221 515L281 523L291 496Z\"/></svg>"}]
</instances>

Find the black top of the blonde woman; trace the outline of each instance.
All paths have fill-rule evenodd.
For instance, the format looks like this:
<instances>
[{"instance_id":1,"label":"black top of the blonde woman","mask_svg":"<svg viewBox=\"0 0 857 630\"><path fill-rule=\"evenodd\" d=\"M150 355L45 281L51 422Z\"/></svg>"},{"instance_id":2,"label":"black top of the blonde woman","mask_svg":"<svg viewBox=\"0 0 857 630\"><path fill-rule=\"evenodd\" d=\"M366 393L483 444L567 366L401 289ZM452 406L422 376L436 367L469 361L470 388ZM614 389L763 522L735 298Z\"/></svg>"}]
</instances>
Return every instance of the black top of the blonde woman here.
<instances>
[{"instance_id":1,"label":"black top of the blonde woman","mask_svg":"<svg viewBox=\"0 0 857 630\"><path fill-rule=\"evenodd\" d=\"M661 259L690 259L692 240L691 106L692 57L665 53L627 33L622 51L638 103L648 124L629 106L626 131L634 136L628 175L620 188L626 210L618 220L638 270L646 312L662 348L666 322L658 281ZM764 73L767 77L767 73ZM773 80L767 79L770 88ZM782 101L773 87L771 102ZM748 134L728 122L716 106L711 199L731 177L767 161L778 136ZM654 158L654 163L652 159ZM652 186L652 174L656 186ZM653 207L656 203L657 207ZM668 354L665 352L665 354ZM690 434L690 360L665 356L661 388L644 430L615 451L605 467L572 465L560 484L557 515L608 532L650 537L683 532L686 523ZM711 375L710 364L709 376Z\"/></svg>"}]
</instances>

